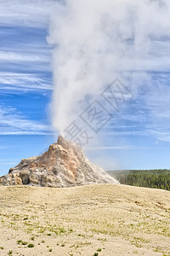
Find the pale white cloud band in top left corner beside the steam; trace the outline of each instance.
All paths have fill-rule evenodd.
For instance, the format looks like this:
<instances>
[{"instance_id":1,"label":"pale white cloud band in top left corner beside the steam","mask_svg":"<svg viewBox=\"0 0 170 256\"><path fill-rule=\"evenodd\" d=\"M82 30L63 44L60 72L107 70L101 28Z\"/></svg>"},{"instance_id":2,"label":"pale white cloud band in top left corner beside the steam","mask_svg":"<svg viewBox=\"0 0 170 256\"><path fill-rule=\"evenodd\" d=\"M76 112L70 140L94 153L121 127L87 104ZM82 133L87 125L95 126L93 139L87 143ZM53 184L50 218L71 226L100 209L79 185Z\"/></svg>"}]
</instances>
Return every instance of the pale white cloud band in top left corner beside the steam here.
<instances>
[{"instance_id":1,"label":"pale white cloud band in top left corner beside the steam","mask_svg":"<svg viewBox=\"0 0 170 256\"><path fill-rule=\"evenodd\" d=\"M8 26L48 26L57 0L1 0L0 20Z\"/></svg>"}]
</instances>

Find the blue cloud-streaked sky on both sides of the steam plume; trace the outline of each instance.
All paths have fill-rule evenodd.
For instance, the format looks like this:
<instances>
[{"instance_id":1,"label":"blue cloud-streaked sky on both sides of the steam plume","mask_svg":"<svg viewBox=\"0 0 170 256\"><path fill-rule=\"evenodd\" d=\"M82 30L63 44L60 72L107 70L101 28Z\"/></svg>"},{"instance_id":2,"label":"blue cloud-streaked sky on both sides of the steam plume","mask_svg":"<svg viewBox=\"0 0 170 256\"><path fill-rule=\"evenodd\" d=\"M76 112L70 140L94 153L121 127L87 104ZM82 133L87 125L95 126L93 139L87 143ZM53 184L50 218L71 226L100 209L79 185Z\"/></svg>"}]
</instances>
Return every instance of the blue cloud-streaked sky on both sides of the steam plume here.
<instances>
[{"instance_id":1,"label":"blue cloud-streaked sky on both sides of the steam plume","mask_svg":"<svg viewBox=\"0 0 170 256\"><path fill-rule=\"evenodd\" d=\"M0 175L56 141L50 114L53 49L47 42L55 1L9 2L0 10ZM133 99L85 148L106 170L170 168L169 38L153 39L150 55L150 68L126 74L129 86L131 77L138 85Z\"/></svg>"}]
</instances>

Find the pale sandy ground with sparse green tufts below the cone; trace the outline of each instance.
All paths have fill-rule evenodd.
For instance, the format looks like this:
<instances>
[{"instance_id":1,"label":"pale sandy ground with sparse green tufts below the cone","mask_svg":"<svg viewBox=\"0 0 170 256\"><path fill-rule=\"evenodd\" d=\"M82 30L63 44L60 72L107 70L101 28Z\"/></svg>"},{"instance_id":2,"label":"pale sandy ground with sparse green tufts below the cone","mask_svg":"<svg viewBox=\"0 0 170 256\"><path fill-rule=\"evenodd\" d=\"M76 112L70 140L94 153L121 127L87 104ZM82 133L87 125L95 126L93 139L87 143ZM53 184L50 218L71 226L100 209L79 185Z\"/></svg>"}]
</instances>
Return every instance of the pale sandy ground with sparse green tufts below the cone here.
<instances>
[{"instance_id":1,"label":"pale sandy ground with sparse green tufts below the cone","mask_svg":"<svg viewBox=\"0 0 170 256\"><path fill-rule=\"evenodd\" d=\"M1 256L137 254L170 255L170 192L0 186Z\"/></svg>"}]
</instances>

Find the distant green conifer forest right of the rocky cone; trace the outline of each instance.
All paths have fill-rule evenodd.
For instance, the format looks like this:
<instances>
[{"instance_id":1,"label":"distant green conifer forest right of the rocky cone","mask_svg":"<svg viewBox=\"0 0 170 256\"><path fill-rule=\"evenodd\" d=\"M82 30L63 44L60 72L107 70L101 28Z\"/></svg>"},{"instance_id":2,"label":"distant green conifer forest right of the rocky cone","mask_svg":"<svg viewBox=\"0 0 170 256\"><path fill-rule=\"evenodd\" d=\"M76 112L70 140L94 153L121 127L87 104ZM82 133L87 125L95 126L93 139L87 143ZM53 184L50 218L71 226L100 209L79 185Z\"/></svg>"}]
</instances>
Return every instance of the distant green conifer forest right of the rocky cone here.
<instances>
[{"instance_id":1,"label":"distant green conifer forest right of the rocky cone","mask_svg":"<svg viewBox=\"0 0 170 256\"><path fill-rule=\"evenodd\" d=\"M127 170L110 171L121 184L170 190L170 170Z\"/></svg>"}]
</instances>

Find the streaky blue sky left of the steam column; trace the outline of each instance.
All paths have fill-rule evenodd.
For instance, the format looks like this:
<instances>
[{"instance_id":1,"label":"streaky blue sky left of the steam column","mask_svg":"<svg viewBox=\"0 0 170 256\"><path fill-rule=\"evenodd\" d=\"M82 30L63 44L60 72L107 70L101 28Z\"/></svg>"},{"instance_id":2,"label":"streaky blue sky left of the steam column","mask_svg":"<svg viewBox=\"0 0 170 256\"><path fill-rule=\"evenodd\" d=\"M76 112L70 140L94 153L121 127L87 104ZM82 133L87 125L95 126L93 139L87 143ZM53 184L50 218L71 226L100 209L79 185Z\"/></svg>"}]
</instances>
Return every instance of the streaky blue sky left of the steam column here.
<instances>
[{"instance_id":1,"label":"streaky blue sky left of the steam column","mask_svg":"<svg viewBox=\"0 0 170 256\"><path fill-rule=\"evenodd\" d=\"M1 175L22 158L41 154L55 140L49 115L51 49L46 40L53 1L47 7L47 2L9 2L0 11Z\"/></svg>"}]
</instances>

